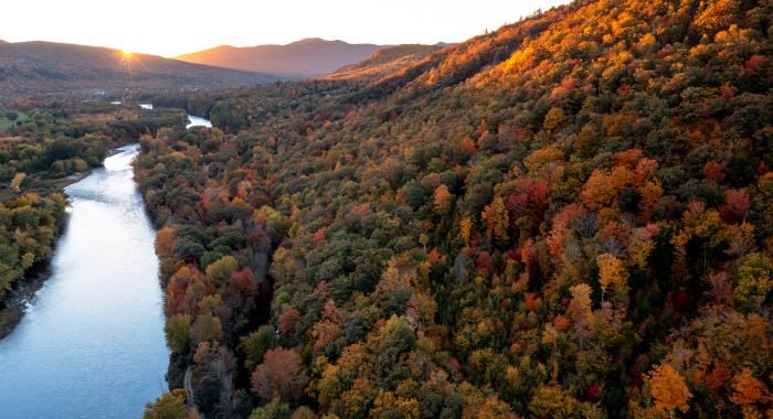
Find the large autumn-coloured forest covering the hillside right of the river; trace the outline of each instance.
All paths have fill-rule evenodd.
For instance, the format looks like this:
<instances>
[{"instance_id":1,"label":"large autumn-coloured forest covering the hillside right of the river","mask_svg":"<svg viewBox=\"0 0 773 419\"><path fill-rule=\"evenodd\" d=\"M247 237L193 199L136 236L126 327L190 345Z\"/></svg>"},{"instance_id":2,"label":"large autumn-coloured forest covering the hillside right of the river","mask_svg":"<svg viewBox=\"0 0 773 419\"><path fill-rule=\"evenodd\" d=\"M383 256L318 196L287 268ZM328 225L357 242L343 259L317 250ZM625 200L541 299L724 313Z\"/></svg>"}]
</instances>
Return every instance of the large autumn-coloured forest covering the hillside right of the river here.
<instances>
[{"instance_id":1,"label":"large autumn-coloured forest covering the hillside right of the river","mask_svg":"<svg viewBox=\"0 0 773 419\"><path fill-rule=\"evenodd\" d=\"M574 1L378 80L159 97L218 128L135 163L146 417L770 417L771 15Z\"/></svg>"}]
</instances>

